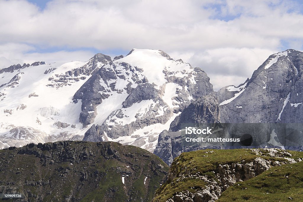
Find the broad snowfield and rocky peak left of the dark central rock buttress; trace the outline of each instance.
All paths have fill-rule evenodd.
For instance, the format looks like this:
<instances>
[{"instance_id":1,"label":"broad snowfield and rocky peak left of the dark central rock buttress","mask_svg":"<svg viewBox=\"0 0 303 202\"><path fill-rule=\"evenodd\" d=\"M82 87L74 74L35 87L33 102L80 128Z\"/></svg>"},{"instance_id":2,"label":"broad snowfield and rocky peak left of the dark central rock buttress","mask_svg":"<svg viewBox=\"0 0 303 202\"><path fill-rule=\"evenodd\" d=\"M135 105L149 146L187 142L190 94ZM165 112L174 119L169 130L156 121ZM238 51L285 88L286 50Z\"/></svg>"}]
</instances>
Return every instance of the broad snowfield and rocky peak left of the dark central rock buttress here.
<instances>
[{"instance_id":1,"label":"broad snowfield and rocky peak left of the dark central rock buttress","mask_svg":"<svg viewBox=\"0 0 303 202\"><path fill-rule=\"evenodd\" d=\"M97 54L87 62L12 65L0 70L0 148L27 143L81 140L81 104L75 91L110 57Z\"/></svg>"}]
</instances>

